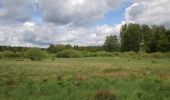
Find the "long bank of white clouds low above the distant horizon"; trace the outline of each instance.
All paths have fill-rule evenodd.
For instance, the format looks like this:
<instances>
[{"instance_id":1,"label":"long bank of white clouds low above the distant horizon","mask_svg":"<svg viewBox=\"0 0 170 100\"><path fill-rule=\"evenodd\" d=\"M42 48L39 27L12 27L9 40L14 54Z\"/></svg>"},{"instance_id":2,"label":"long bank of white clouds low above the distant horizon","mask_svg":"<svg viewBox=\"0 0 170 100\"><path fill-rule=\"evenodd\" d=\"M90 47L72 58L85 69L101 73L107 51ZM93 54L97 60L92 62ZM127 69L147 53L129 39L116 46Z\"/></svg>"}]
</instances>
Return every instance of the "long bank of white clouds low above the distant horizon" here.
<instances>
[{"instance_id":1,"label":"long bank of white clouds low above the distant horizon","mask_svg":"<svg viewBox=\"0 0 170 100\"><path fill-rule=\"evenodd\" d=\"M0 26L0 45L39 46L49 44L102 45L105 36L119 33L121 25L98 26L93 28L73 27L71 25L56 26L55 24ZM30 24L32 24L30 26Z\"/></svg>"}]
</instances>

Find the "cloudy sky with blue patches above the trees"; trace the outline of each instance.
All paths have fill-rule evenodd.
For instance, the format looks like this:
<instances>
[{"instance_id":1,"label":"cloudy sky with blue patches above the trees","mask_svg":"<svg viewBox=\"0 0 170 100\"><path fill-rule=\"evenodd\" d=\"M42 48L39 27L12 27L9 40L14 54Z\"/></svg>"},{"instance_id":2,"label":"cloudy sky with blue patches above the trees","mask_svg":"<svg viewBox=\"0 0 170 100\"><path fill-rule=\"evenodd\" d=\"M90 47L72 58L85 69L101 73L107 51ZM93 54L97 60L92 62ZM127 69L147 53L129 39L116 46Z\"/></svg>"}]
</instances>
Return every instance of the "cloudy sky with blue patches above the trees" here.
<instances>
[{"instance_id":1,"label":"cloudy sky with blue patches above the trees","mask_svg":"<svg viewBox=\"0 0 170 100\"><path fill-rule=\"evenodd\" d=\"M170 28L169 7L169 0L0 0L0 45L102 45L125 23Z\"/></svg>"}]
</instances>

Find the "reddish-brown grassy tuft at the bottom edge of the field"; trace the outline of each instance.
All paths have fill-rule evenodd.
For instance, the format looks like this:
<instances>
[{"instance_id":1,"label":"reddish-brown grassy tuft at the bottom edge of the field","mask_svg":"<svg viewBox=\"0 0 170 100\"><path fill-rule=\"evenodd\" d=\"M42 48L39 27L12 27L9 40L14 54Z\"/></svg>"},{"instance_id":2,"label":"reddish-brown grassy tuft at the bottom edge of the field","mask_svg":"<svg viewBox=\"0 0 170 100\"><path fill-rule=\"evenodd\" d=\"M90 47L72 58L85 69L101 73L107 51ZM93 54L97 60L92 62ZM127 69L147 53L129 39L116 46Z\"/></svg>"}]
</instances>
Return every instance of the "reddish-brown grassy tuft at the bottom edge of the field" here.
<instances>
[{"instance_id":1,"label":"reddish-brown grassy tuft at the bottom edge of the field","mask_svg":"<svg viewBox=\"0 0 170 100\"><path fill-rule=\"evenodd\" d=\"M116 100L116 94L108 89L101 89L95 94L94 100Z\"/></svg>"}]
</instances>

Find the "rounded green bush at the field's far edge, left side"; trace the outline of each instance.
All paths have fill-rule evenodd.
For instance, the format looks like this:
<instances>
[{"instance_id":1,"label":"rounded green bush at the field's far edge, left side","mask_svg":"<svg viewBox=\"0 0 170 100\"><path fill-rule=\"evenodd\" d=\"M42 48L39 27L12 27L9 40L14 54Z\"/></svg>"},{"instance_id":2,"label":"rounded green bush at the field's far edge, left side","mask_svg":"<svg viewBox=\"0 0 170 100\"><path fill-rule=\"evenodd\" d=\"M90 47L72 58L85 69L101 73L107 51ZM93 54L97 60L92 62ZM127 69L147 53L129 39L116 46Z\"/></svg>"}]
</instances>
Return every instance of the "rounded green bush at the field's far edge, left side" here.
<instances>
[{"instance_id":1,"label":"rounded green bush at the field's far edge, left side","mask_svg":"<svg viewBox=\"0 0 170 100\"><path fill-rule=\"evenodd\" d=\"M40 61L46 57L46 52L38 48L32 48L27 51L27 57L32 61Z\"/></svg>"}]
</instances>

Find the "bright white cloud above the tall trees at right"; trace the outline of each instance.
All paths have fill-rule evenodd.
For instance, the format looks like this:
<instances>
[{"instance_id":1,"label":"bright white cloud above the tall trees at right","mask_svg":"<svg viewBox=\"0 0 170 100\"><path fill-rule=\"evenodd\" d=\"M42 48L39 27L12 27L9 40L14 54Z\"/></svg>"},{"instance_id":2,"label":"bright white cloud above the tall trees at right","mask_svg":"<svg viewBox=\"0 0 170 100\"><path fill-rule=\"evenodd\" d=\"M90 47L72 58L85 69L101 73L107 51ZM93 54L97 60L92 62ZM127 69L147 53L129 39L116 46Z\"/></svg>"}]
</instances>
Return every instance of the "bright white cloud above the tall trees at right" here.
<instances>
[{"instance_id":1,"label":"bright white cloud above the tall trees at right","mask_svg":"<svg viewBox=\"0 0 170 100\"><path fill-rule=\"evenodd\" d=\"M126 21L170 27L169 0L135 0L126 9Z\"/></svg>"}]
</instances>

